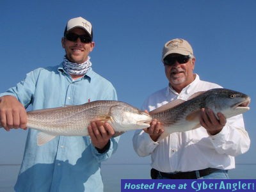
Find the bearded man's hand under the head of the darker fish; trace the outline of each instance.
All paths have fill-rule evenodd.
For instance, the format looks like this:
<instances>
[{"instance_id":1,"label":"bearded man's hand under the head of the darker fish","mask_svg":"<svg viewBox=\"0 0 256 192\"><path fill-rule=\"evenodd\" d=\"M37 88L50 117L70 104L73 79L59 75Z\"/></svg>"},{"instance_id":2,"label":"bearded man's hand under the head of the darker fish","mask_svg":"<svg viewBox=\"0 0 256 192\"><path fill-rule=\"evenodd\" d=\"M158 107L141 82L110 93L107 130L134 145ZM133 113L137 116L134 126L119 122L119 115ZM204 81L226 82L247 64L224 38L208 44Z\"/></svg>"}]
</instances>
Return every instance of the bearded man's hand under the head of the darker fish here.
<instances>
[{"instance_id":1,"label":"bearded man's hand under the head of the darker fish","mask_svg":"<svg viewBox=\"0 0 256 192\"><path fill-rule=\"evenodd\" d=\"M211 135L218 134L227 123L226 117L222 113L217 113L218 118L211 109L201 109L200 124Z\"/></svg>"}]
</instances>

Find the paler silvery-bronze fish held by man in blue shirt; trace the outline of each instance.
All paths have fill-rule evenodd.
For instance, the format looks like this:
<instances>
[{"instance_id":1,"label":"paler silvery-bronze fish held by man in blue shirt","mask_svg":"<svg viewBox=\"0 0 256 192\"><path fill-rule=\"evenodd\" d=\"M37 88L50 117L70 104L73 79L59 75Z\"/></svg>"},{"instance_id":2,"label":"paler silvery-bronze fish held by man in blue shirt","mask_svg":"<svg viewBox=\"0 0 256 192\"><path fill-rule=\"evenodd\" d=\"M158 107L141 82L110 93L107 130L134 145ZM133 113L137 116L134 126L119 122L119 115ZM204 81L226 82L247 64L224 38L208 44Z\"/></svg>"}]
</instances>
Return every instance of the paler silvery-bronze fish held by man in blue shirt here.
<instances>
[{"instance_id":1,"label":"paler silvery-bronze fish held by man in blue shirt","mask_svg":"<svg viewBox=\"0 0 256 192\"><path fill-rule=\"evenodd\" d=\"M37 144L44 145L56 136L87 136L90 122L108 122L116 136L123 132L149 127L147 113L116 100L97 100L77 106L29 111L27 127L36 129ZM1 126L0 126L1 127Z\"/></svg>"}]
</instances>

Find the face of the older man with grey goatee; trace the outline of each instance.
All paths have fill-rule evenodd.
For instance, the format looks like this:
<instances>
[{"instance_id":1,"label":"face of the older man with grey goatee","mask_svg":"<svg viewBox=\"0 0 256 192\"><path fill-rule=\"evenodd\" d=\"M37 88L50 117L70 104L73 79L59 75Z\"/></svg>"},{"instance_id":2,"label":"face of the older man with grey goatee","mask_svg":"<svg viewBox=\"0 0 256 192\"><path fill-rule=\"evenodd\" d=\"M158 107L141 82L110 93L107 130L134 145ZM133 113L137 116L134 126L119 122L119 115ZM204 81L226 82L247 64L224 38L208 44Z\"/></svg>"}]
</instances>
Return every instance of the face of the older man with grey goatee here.
<instances>
[{"instance_id":1,"label":"face of the older man with grey goatee","mask_svg":"<svg viewBox=\"0 0 256 192\"><path fill-rule=\"evenodd\" d=\"M172 54L173 57L180 56L180 54ZM173 65L164 65L165 75L171 84L172 88L178 93L192 83L195 79L193 70L195 68L195 58L191 58L187 63L180 64L177 60Z\"/></svg>"}]
</instances>

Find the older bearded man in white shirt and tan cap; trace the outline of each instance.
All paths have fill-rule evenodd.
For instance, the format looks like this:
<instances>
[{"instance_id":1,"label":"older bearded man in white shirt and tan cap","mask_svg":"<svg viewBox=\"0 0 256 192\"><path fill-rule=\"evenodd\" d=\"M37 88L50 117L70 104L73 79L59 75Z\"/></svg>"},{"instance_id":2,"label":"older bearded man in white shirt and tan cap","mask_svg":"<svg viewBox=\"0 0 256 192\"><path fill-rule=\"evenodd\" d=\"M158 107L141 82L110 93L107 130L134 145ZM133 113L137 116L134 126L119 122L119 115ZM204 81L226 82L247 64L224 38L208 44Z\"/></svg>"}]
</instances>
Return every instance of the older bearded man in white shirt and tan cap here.
<instances>
[{"instance_id":1,"label":"older bearded man in white shirt and tan cap","mask_svg":"<svg viewBox=\"0 0 256 192\"><path fill-rule=\"evenodd\" d=\"M186 40L166 42L162 61L169 84L145 100L143 109L147 111L175 99L188 100L196 92L221 88L193 73L195 56ZM235 168L234 157L249 149L250 138L242 115L227 120L222 113L217 116L211 109L202 109L202 127L174 132L160 141L157 138L163 129L157 120L147 129L136 131L134 150L141 157L151 155L152 179L228 179L228 170Z\"/></svg>"}]
</instances>

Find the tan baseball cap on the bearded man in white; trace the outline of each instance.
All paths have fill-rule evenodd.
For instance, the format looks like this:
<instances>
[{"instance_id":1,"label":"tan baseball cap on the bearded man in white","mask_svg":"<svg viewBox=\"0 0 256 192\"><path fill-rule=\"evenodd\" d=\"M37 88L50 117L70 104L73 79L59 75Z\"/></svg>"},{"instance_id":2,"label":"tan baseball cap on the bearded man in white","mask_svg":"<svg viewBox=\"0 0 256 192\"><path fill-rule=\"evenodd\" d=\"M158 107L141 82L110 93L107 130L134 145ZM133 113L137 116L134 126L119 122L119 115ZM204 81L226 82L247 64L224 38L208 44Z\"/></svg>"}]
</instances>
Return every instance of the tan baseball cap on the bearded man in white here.
<instances>
[{"instance_id":1,"label":"tan baseball cap on the bearded man in white","mask_svg":"<svg viewBox=\"0 0 256 192\"><path fill-rule=\"evenodd\" d=\"M193 49L186 40L182 38L175 38L173 40L166 42L166 44L164 44L162 61L166 56L168 56L168 54L172 54L172 53L189 55L189 54L193 54Z\"/></svg>"}]
</instances>

